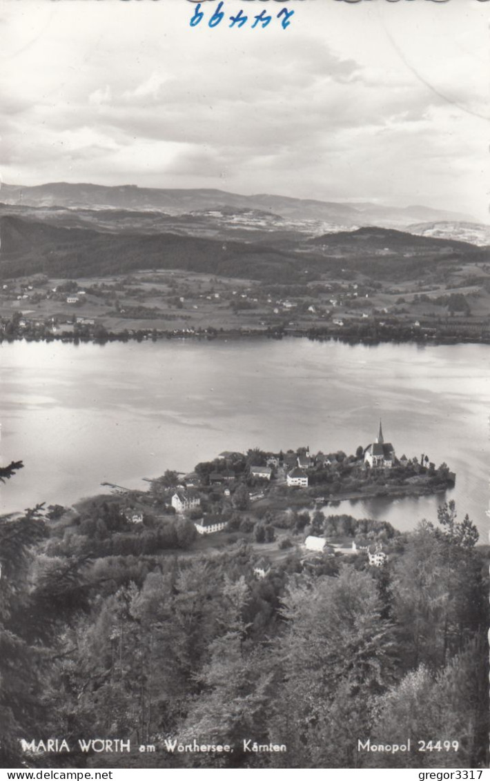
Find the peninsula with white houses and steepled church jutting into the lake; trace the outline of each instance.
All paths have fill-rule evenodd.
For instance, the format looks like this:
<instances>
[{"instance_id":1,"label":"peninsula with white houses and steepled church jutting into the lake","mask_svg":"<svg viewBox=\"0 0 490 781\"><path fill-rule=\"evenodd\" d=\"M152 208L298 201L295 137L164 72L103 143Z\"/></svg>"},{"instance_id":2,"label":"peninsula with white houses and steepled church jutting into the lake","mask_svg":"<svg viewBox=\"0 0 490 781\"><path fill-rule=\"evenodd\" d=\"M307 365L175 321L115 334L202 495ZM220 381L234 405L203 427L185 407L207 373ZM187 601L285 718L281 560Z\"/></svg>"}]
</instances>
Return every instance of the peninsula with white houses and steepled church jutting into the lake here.
<instances>
[{"instance_id":1,"label":"peninsula with white houses and steepled church jutting into the lake","mask_svg":"<svg viewBox=\"0 0 490 781\"><path fill-rule=\"evenodd\" d=\"M274 561L306 555L312 540L314 550L328 544L331 555L352 555L372 544L389 550L399 531L384 521L338 515L338 501L444 493L455 480L447 465L436 468L427 454L398 458L380 421L377 437L355 455L313 454L308 447L224 451L188 474L167 469L148 479L146 491L103 483L112 495L81 501L71 511L51 505L48 517L62 536L75 527L86 538L84 550L95 546L98 556L201 554L240 540ZM57 545L64 550L64 543Z\"/></svg>"}]
</instances>

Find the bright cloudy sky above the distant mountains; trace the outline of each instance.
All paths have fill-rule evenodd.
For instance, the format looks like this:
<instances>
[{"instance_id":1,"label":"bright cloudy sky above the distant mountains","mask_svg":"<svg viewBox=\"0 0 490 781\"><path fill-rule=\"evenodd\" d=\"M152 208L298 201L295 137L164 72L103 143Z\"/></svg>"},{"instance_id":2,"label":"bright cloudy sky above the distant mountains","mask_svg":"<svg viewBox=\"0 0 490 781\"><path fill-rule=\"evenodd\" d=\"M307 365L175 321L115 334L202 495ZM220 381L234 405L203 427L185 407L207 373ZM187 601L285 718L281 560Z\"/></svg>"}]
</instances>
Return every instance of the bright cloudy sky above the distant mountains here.
<instances>
[{"instance_id":1,"label":"bright cloudy sky above the distant mountains","mask_svg":"<svg viewBox=\"0 0 490 781\"><path fill-rule=\"evenodd\" d=\"M0 0L9 184L219 187L488 219L478 0ZM287 30L227 27L243 9Z\"/></svg>"}]
</instances>

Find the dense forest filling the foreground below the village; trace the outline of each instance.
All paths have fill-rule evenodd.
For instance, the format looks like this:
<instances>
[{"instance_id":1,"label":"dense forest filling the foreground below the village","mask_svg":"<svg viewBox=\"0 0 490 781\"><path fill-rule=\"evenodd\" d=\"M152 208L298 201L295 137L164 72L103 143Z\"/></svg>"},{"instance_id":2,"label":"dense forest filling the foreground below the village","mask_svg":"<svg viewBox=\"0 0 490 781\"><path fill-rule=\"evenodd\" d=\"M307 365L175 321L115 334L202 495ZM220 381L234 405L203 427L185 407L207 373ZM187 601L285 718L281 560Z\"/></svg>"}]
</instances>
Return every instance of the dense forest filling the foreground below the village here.
<instances>
[{"instance_id":1,"label":"dense forest filling the foreground below the village","mask_svg":"<svg viewBox=\"0 0 490 781\"><path fill-rule=\"evenodd\" d=\"M70 513L0 523L2 767L488 765L488 551L453 507L396 533L379 568L342 554L305 568L293 553L265 577L243 541L191 555L185 520L166 537L140 525L134 555L116 505ZM80 751L80 738L131 751ZM358 751L408 738L410 752ZM48 739L70 753L33 751Z\"/></svg>"}]
</instances>

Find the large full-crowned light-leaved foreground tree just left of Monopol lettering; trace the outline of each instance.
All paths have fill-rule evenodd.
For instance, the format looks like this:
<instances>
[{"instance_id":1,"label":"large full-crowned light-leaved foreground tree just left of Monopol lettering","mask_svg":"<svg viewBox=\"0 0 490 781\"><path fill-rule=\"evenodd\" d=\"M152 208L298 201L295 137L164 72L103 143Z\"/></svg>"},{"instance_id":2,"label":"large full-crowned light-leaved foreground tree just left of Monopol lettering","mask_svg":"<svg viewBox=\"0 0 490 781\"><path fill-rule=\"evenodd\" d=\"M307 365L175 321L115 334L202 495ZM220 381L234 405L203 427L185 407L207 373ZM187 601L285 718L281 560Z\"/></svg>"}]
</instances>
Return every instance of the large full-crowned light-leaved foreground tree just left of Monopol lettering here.
<instances>
[{"instance_id":1,"label":"large full-crowned light-leaved foreground tree just left of Monopol lettering","mask_svg":"<svg viewBox=\"0 0 490 781\"><path fill-rule=\"evenodd\" d=\"M290 584L287 629L276 647L284 680L270 739L288 745L294 767L356 767L372 697L393 680L395 636L382 611L370 573L349 566L338 577Z\"/></svg>"}]
</instances>

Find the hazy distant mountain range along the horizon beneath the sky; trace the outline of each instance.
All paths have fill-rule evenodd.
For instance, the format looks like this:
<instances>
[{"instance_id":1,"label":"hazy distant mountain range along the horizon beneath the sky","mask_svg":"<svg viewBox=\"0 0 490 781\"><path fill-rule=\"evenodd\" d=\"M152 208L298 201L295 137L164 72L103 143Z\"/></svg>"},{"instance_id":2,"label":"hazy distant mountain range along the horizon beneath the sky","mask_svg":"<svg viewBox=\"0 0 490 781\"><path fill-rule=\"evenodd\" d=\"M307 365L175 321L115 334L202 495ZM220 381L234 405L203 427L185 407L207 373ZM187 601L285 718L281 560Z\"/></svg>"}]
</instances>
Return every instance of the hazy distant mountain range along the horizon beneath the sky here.
<instances>
[{"instance_id":1,"label":"hazy distant mountain range along the horizon beneath the sky","mask_svg":"<svg viewBox=\"0 0 490 781\"><path fill-rule=\"evenodd\" d=\"M270 194L240 195L212 189L177 190L136 185L105 187L66 182L36 187L3 184L0 202L42 208L61 206L69 209L125 209L138 212L153 210L170 216L190 212L221 212L226 216L227 210L227 216L230 216L230 210L236 209L262 212L275 220L283 218L296 223L333 223L337 230L367 225L406 227L413 223L475 222L466 214L419 205L396 208L370 202L348 204Z\"/></svg>"}]
</instances>

